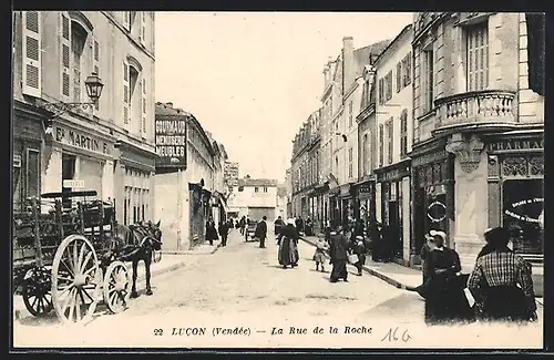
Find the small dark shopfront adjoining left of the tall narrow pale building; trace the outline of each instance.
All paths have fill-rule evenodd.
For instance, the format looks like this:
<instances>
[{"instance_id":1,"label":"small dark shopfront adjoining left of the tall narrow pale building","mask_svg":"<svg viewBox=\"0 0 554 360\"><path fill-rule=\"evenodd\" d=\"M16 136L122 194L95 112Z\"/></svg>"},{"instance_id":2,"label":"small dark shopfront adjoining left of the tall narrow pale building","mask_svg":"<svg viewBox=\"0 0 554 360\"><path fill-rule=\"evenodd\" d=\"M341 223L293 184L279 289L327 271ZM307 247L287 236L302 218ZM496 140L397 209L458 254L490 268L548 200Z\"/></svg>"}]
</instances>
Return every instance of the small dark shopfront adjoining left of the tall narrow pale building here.
<instances>
[{"instance_id":1,"label":"small dark shopfront adjoining left of the tall narrow pale building","mask_svg":"<svg viewBox=\"0 0 554 360\"><path fill-rule=\"evenodd\" d=\"M365 234L370 239L376 238L377 218L375 191L376 183L372 179L367 179L355 185L355 217L361 219L365 227Z\"/></svg>"}]
</instances>

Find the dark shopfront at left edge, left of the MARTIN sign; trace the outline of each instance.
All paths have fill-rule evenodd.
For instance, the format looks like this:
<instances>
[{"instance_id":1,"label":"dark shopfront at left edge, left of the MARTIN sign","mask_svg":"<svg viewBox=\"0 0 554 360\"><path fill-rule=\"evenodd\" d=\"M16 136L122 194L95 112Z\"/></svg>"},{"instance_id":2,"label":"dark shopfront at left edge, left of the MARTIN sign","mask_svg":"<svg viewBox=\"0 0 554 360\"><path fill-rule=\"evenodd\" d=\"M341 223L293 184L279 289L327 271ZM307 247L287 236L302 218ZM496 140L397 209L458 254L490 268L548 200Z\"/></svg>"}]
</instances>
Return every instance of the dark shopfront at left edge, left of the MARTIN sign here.
<instances>
[{"instance_id":1,"label":"dark shopfront at left edge, left of the MARTIN sign","mask_svg":"<svg viewBox=\"0 0 554 360\"><path fill-rule=\"evenodd\" d=\"M23 200L41 194L42 122L37 109L19 101L13 106L13 210L22 209Z\"/></svg>"}]
</instances>

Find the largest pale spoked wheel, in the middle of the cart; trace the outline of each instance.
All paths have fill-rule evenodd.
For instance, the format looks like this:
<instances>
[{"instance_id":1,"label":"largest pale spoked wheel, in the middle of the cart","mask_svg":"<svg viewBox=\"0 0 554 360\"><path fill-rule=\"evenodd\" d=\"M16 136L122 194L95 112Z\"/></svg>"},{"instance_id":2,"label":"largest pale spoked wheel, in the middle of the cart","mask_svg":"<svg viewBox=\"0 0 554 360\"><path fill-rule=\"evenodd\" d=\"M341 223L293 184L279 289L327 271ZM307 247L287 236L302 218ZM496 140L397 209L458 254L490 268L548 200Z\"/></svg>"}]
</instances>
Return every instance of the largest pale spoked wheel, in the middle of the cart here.
<instances>
[{"instance_id":1,"label":"largest pale spoked wheel, in the middle of the cart","mask_svg":"<svg viewBox=\"0 0 554 360\"><path fill-rule=\"evenodd\" d=\"M52 301L64 323L88 321L101 299L102 271L94 248L84 236L68 236L52 265Z\"/></svg>"}]
</instances>

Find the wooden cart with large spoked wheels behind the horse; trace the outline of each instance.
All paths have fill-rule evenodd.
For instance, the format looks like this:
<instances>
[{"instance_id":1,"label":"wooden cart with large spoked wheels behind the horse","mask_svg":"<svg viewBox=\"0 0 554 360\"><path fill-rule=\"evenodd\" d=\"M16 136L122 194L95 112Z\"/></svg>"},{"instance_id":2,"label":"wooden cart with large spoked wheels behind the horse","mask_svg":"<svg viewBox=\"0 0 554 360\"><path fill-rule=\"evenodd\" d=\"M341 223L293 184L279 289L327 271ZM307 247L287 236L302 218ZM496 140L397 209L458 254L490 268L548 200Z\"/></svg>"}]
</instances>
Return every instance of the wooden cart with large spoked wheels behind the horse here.
<instances>
[{"instance_id":1,"label":"wooden cart with large spoked wheels behind the horse","mask_svg":"<svg viewBox=\"0 0 554 360\"><path fill-rule=\"evenodd\" d=\"M62 322L81 322L102 300L113 313L126 308L129 271L112 251L115 207L95 196L94 191L42 194L13 215L14 291L33 316L54 309ZM79 198L76 206L64 208L63 200L72 198Z\"/></svg>"}]
</instances>

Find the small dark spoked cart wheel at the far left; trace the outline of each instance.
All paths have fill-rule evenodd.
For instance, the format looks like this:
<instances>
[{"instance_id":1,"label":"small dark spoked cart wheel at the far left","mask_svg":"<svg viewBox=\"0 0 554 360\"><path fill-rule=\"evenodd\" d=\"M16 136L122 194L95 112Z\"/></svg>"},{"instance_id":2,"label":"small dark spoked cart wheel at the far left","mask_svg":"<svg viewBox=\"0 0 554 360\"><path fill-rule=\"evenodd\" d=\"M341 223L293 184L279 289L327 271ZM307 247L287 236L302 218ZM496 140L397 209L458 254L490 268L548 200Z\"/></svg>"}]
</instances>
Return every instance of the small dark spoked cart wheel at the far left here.
<instances>
[{"instance_id":1,"label":"small dark spoked cart wheel at the far left","mask_svg":"<svg viewBox=\"0 0 554 360\"><path fill-rule=\"evenodd\" d=\"M21 295L27 310L35 317L43 317L52 311L50 271L35 267L25 274Z\"/></svg>"}]
</instances>

